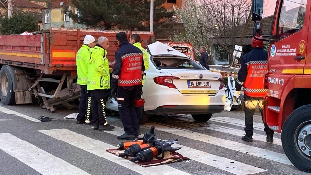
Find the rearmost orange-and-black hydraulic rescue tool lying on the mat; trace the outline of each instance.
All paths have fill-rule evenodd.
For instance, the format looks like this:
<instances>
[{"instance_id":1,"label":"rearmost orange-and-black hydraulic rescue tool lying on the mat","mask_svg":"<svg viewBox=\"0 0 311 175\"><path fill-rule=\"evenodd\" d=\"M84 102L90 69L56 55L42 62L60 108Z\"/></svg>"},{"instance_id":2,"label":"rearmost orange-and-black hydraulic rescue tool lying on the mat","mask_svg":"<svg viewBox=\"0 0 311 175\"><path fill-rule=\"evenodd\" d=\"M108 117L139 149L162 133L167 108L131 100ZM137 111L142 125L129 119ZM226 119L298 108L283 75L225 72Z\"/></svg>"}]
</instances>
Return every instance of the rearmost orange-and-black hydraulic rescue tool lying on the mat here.
<instances>
[{"instance_id":1,"label":"rearmost orange-and-black hydraulic rescue tool lying on the mat","mask_svg":"<svg viewBox=\"0 0 311 175\"><path fill-rule=\"evenodd\" d=\"M134 144L138 144L138 145L142 145L145 143L152 144L152 141L156 140L154 131L155 131L155 126L151 126L150 131L146 132L146 134L144 134L144 137L137 138L135 141L122 142L118 144L117 147L119 150L126 150L127 148L129 148L131 145L134 145ZM138 141L138 140L142 140L142 141Z\"/></svg>"}]
</instances>

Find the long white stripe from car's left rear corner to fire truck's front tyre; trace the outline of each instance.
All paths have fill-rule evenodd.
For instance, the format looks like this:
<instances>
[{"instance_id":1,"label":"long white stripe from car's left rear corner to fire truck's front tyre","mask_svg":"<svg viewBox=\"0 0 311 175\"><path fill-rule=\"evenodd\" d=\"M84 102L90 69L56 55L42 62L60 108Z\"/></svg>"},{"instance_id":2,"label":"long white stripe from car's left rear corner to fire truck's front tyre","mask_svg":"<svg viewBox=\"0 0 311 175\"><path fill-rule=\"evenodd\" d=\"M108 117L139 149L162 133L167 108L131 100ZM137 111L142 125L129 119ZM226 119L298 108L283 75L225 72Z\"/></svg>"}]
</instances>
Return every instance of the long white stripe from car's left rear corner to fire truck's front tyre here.
<instances>
[{"instance_id":1,"label":"long white stripe from car's left rear corner to fire truck's front tyre","mask_svg":"<svg viewBox=\"0 0 311 175\"><path fill-rule=\"evenodd\" d=\"M246 144L242 144L242 143L238 143L238 142L234 142L230 140L208 136L202 133L192 132L192 131L185 130L185 129L178 129L172 126L166 126L165 124L155 124L155 123L144 124L144 126L146 127L151 127L152 125L155 126L156 130L160 130L160 131L168 132L168 133L175 134L178 136L186 137L189 139L217 145L217 146L224 147L224 148L234 150L234 151L238 151L241 153L248 152L247 154L252 155L252 156L265 158L268 160L276 161L276 162L287 164L287 165L292 165L292 163L288 160L285 154L276 153L274 151L265 150L262 148L257 148L254 146L250 146L250 145L246 145Z\"/></svg>"}]
</instances>

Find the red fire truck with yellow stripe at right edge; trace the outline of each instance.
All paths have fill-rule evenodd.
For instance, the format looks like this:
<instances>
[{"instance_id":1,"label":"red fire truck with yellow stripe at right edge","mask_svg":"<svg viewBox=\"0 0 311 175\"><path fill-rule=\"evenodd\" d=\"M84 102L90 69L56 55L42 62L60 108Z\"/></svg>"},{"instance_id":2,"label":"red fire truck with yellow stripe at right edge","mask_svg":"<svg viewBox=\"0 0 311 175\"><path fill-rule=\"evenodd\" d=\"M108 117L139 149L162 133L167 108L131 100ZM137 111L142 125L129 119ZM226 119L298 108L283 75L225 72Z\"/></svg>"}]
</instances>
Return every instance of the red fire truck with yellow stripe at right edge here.
<instances>
[{"instance_id":1,"label":"red fire truck with yellow stripe at right edge","mask_svg":"<svg viewBox=\"0 0 311 175\"><path fill-rule=\"evenodd\" d=\"M264 85L264 120L282 134L286 156L311 172L311 0L277 0ZM254 36L262 34L263 0L253 0ZM310 27L310 29L309 29Z\"/></svg>"}]
</instances>

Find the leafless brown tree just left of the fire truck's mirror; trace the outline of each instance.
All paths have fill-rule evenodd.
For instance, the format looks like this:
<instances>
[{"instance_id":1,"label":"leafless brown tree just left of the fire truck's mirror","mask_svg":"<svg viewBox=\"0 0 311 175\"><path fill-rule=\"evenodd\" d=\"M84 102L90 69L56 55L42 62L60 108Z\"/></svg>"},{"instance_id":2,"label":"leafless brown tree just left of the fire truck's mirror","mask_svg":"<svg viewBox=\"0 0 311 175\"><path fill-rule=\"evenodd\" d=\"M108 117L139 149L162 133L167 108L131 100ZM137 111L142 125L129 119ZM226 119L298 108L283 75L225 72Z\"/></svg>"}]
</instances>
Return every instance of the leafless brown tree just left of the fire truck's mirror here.
<instances>
[{"instance_id":1,"label":"leafless brown tree just left of the fire truck's mirror","mask_svg":"<svg viewBox=\"0 0 311 175\"><path fill-rule=\"evenodd\" d=\"M217 31L213 35L213 44L218 45L229 55L229 63L232 63L234 45L240 44L243 39L244 26L249 23L250 0L201 0L217 25ZM247 26L247 25L246 25Z\"/></svg>"}]
</instances>

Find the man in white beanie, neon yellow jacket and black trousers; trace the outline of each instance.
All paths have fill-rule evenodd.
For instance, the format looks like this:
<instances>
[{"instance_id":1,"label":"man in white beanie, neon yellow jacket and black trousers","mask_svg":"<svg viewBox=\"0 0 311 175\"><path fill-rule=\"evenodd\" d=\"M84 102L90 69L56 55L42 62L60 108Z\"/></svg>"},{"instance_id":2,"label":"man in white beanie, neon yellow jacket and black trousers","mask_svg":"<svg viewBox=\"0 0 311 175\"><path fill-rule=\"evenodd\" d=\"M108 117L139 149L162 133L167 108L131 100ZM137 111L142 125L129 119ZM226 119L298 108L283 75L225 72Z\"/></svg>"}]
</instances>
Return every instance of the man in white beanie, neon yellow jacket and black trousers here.
<instances>
[{"instance_id":1,"label":"man in white beanie, neon yellow jacket and black trousers","mask_svg":"<svg viewBox=\"0 0 311 175\"><path fill-rule=\"evenodd\" d=\"M87 91L87 76L88 76L89 57L91 54L90 50L94 46L95 46L95 38L91 35L86 35L84 37L83 45L79 49L76 57L78 85L80 85L81 87L81 98L79 104L79 114L77 116L77 124L85 123L85 116L87 119L91 119L90 115L91 94ZM91 123L85 124L91 125Z\"/></svg>"}]
</instances>

